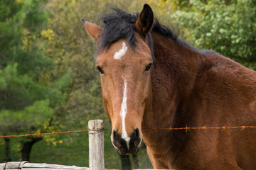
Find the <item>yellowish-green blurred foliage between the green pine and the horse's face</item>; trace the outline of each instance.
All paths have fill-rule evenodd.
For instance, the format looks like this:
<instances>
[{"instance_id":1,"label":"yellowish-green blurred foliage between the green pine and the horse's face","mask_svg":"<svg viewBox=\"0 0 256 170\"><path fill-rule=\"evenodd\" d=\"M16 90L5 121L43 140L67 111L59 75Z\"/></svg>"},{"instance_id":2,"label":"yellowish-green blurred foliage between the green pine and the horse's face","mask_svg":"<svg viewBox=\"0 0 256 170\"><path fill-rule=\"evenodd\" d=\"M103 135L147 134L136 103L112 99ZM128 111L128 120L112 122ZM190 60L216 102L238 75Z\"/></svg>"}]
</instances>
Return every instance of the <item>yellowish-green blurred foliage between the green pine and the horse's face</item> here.
<instances>
[{"instance_id":1,"label":"yellowish-green blurred foliage between the green pine and the horse's face","mask_svg":"<svg viewBox=\"0 0 256 170\"><path fill-rule=\"evenodd\" d=\"M102 2L105 4L105 2ZM100 91L100 79L95 71L96 46L80 21L84 11L92 21L99 1L52 1L48 4L48 28L42 31L47 42L47 55L55 62L48 79L56 79L69 68L72 81L66 89L68 98L58 112L63 129L85 128L92 118L106 118ZM90 10L89 10L90 9ZM68 17L63 17L68 16Z\"/></svg>"}]
</instances>

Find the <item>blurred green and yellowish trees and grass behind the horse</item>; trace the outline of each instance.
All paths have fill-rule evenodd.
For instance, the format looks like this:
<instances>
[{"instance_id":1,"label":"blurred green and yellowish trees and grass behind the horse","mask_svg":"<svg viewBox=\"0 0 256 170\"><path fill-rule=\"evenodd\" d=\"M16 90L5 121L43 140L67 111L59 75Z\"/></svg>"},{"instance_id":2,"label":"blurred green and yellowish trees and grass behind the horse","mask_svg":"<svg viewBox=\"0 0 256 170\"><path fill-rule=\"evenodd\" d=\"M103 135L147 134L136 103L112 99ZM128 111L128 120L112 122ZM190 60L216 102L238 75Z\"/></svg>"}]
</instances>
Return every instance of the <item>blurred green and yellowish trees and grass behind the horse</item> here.
<instances>
[{"instance_id":1,"label":"blurred green and yellowish trees and grass behind the horse","mask_svg":"<svg viewBox=\"0 0 256 170\"><path fill-rule=\"evenodd\" d=\"M80 18L97 17L115 5L130 13L149 4L161 23L200 50L211 49L256 69L255 0L1 0L0 135L87 129L105 120L96 45ZM29 160L88 166L86 133L0 139L0 162ZM105 167L151 168L146 147L121 157L105 131Z\"/></svg>"}]
</instances>

